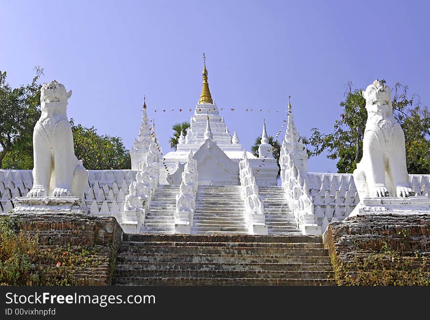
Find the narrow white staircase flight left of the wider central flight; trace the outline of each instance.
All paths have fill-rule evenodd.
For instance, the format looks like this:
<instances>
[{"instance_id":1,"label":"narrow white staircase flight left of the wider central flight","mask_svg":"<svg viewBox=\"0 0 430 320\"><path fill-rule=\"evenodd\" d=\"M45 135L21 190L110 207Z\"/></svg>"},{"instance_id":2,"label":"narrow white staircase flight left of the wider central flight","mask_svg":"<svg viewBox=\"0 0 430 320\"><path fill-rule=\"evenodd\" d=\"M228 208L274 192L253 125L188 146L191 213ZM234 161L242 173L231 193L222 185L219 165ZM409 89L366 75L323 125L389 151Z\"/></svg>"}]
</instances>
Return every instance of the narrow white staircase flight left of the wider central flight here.
<instances>
[{"instance_id":1,"label":"narrow white staircase flight left of the wider central flight","mask_svg":"<svg viewBox=\"0 0 430 320\"><path fill-rule=\"evenodd\" d=\"M174 234L176 194L179 194L179 186L160 185L158 187L140 233Z\"/></svg>"}]
</instances>

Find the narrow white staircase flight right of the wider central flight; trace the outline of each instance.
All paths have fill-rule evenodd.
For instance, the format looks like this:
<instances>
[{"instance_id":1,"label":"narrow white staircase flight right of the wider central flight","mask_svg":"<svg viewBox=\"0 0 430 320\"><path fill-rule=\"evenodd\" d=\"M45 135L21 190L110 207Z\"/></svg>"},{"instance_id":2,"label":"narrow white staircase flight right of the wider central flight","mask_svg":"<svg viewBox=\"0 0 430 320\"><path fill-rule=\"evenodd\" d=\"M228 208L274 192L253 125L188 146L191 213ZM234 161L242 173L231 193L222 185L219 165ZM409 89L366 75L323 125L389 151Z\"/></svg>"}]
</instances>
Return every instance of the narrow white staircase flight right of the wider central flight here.
<instances>
[{"instance_id":1,"label":"narrow white staircase flight right of the wider central flight","mask_svg":"<svg viewBox=\"0 0 430 320\"><path fill-rule=\"evenodd\" d=\"M301 235L282 187L260 187L269 235Z\"/></svg>"}]
</instances>

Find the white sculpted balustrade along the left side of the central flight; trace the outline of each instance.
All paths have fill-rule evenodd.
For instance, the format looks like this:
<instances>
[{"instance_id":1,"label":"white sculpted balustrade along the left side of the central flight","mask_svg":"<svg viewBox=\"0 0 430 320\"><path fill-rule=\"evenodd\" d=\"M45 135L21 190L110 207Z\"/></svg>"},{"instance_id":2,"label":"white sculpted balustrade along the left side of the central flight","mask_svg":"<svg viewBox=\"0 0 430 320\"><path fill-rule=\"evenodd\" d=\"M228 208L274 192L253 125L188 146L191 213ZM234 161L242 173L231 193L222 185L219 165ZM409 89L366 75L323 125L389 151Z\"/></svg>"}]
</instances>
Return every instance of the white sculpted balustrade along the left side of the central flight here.
<instances>
[{"instance_id":1,"label":"white sculpted balustrade along the left side of the central flight","mask_svg":"<svg viewBox=\"0 0 430 320\"><path fill-rule=\"evenodd\" d=\"M175 233L190 234L195 211L197 196L198 171L197 161L193 159L193 152L188 153L187 163L182 172L182 182L179 194L176 195L176 211L174 213Z\"/></svg>"}]
</instances>

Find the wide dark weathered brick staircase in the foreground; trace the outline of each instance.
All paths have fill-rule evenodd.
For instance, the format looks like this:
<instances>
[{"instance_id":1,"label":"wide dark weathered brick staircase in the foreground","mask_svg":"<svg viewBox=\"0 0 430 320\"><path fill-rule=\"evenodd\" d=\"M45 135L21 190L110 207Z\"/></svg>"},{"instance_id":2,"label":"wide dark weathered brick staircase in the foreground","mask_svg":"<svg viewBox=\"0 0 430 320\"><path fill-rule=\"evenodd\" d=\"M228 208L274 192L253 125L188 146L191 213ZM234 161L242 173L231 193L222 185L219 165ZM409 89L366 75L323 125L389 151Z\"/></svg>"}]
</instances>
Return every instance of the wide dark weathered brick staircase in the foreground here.
<instances>
[{"instance_id":1,"label":"wide dark weathered brick staircase in the foreground","mask_svg":"<svg viewBox=\"0 0 430 320\"><path fill-rule=\"evenodd\" d=\"M124 235L116 285L336 285L321 236Z\"/></svg>"}]
</instances>

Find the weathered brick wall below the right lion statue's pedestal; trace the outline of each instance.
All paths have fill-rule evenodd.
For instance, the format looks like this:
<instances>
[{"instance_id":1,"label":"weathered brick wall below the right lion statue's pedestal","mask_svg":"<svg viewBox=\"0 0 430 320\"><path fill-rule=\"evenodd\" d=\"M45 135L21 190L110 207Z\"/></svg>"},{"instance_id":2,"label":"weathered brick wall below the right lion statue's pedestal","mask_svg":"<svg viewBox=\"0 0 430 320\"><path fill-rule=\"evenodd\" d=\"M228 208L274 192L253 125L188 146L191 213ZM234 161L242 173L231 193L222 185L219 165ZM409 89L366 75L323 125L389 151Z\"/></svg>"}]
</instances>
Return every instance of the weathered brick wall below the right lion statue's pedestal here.
<instances>
[{"instance_id":1,"label":"weathered brick wall below the right lion statue's pedestal","mask_svg":"<svg viewBox=\"0 0 430 320\"><path fill-rule=\"evenodd\" d=\"M429 284L430 215L369 214L323 234L339 284Z\"/></svg>"}]
</instances>

